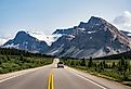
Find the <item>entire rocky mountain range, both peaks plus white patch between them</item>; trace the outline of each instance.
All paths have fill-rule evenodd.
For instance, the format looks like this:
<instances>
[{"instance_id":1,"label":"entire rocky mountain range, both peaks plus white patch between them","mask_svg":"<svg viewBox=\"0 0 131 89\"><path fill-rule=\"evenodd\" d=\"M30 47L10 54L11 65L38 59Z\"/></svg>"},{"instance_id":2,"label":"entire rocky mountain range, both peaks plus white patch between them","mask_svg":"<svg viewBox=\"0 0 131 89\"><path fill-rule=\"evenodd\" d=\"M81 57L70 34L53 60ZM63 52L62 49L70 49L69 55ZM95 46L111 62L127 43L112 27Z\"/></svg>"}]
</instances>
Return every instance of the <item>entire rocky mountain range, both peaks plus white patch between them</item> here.
<instances>
[{"instance_id":1,"label":"entire rocky mountain range, both peaks plus white patch between them","mask_svg":"<svg viewBox=\"0 0 131 89\"><path fill-rule=\"evenodd\" d=\"M51 36L43 33L18 31L3 48L16 48L58 58L100 58L131 50L130 33L118 30L101 17L67 29L56 29Z\"/></svg>"}]
</instances>

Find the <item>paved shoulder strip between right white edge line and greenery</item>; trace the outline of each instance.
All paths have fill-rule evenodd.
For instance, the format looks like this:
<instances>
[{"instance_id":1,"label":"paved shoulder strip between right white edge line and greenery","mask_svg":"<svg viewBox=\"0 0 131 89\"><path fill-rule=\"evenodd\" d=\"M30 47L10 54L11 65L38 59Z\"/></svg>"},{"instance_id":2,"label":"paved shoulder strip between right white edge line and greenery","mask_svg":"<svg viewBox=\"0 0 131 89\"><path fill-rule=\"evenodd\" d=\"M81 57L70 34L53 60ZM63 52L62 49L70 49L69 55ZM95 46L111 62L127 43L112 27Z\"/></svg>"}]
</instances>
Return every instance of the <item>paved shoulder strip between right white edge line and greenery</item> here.
<instances>
[{"instance_id":1,"label":"paved shoulder strip between right white edge line and greenery","mask_svg":"<svg viewBox=\"0 0 131 89\"><path fill-rule=\"evenodd\" d=\"M90 79L92 81L101 84L101 85L103 85L103 86L105 86L105 87L107 87L109 89L131 89L131 87L121 85L121 84L119 84L117 81L113 81L113 80L108 80L108 79L105 79L105 78L102 78L102 77L97 77L97 76L84 73L82 71L79 71L79 69L70 68L68 66L66 66L66 68L68 71L71 71L71 72L78 74L78 75L84 76L86 78L88 78L88 79Z\"/></svg>"}]
</instances>

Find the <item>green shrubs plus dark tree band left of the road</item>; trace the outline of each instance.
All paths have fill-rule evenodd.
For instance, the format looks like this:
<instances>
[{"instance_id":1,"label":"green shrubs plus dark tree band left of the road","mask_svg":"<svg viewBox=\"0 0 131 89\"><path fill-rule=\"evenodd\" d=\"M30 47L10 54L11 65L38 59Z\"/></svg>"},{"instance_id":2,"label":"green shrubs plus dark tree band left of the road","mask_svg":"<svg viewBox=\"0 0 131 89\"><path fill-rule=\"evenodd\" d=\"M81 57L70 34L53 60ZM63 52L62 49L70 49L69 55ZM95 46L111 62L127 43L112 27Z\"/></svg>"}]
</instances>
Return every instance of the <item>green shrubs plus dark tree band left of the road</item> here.
<instances>
[{"instance_id":1,"label":"green shrubs plus dark tree band left of the road","mask_svg":"<svg viewBox=\"0 0 131 89\"><path fill-rule=\"evenodd\" d=\"M0 74L51 64L53 58L16 49L0 49Z\"/></svg>"}]
</instances>

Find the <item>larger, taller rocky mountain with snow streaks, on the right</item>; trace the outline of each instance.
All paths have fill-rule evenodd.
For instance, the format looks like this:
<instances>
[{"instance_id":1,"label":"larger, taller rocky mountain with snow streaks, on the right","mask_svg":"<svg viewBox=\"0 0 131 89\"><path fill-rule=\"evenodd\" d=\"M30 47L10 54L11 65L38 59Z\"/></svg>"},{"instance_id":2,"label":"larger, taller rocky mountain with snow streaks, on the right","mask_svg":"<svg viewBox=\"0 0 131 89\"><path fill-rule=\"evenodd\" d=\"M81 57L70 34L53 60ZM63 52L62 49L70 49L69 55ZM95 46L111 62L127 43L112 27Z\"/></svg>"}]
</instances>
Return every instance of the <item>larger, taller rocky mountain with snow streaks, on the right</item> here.
<instances>
[{"instance_id":1,"label":"larger, taller rocky mountain with snow streaks, on the right","mask_svg":"<svg viewBox=\"0 0 131 89\"><path fill-rule=\"evenodd\" d=\"M47 54L58 58L99 58L131 50L129 37L101 17L92 16L88 23L56 29L53 34L63 36L52 43Z\"/></svg>"}]
</instances>

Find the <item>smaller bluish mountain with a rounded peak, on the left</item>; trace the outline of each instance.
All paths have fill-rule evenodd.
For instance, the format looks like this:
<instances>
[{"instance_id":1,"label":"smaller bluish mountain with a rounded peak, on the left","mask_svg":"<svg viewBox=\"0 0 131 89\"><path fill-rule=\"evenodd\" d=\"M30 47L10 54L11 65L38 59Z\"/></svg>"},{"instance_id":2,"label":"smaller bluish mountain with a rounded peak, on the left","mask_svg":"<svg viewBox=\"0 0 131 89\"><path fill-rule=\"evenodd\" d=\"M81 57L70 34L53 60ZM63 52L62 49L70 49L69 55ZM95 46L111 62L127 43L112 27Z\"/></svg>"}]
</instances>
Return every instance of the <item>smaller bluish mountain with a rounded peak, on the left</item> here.
<instances>
[{"instance_id":1,"label":"smaller bluish mountain with a rounded peak, on the left","mask_svg":"<svg viewBox=\"0 0 131 89\"><path fill-rule=\"evenodd\" d=\"M21 50L26 50L29 52L41 52L43 53L49 46L45 41L40 41L35 37L31 37L28 33L18 31L14 39L5 42L3 48L16 48Z\"/></svg>"}]
</instances>

